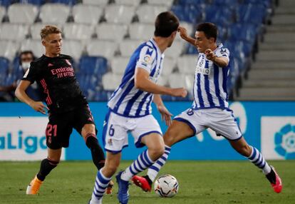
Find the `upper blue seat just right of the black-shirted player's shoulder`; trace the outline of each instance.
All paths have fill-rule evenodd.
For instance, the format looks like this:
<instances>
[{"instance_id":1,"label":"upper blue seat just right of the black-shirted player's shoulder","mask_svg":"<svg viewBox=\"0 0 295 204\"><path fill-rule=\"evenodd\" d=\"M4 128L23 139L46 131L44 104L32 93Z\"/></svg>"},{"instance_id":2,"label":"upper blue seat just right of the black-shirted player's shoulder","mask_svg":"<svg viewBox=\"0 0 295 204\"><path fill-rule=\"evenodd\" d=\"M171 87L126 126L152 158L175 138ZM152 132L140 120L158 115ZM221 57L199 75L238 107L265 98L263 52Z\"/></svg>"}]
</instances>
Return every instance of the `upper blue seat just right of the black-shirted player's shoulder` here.
<instances>
[{"instance_id":1,"label":"upper blue seat just right of the black-shirted player's shoulder","mask_svg":"<svg viewBox=\"0 0 295 204\"><path fill-rule=\"evenodd\" d=\"M102 76L108 69L107 59L96 56L82 56L79 62L79 75Z\"/></svg>"}]
</instances>

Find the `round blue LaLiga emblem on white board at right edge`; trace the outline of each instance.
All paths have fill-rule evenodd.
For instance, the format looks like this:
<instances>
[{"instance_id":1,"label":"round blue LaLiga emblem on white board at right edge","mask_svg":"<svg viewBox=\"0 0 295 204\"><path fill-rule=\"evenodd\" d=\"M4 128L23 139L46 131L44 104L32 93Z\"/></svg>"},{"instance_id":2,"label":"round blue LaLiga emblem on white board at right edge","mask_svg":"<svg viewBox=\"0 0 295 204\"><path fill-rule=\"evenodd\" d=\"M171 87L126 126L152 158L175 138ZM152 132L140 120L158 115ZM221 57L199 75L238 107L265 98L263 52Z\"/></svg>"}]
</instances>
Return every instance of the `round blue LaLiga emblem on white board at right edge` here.
<instances>
[{"instance_id":1,"label":"round blue LaLiga emblem on white board at right edge","mask_svg":"<svg viewBox=\"0 0 295 204\"><path fill-rule=\"evenodd\" d=\"M286 159L295 158L295 126L286 124L274 135L275 151Z\"/></svg>"}]
</instances>

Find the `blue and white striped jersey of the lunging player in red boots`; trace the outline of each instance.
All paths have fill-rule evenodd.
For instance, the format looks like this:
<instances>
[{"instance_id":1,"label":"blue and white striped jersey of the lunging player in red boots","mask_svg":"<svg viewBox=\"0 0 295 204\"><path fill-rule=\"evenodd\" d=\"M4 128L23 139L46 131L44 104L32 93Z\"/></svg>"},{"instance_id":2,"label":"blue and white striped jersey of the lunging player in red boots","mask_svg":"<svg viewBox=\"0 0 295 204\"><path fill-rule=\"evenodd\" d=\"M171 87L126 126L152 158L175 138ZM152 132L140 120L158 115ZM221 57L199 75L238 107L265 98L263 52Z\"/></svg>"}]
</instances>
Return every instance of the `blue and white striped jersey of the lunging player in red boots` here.
<instances>
[{"instance_id":1,"label":"blue and white striped jersey of the lunging player in red boots","mask_svg":"<svg viewBox=\"0 0 295 204\"><path fill-rule=\"evenodd\" d=\"M229 59L229 50L217 44L214 50L217 57ZM227 76L229 66L219 67L206 59L205 53L199 53L195 70L193 109L228 108Z\"/></svg>"}]
</instances>

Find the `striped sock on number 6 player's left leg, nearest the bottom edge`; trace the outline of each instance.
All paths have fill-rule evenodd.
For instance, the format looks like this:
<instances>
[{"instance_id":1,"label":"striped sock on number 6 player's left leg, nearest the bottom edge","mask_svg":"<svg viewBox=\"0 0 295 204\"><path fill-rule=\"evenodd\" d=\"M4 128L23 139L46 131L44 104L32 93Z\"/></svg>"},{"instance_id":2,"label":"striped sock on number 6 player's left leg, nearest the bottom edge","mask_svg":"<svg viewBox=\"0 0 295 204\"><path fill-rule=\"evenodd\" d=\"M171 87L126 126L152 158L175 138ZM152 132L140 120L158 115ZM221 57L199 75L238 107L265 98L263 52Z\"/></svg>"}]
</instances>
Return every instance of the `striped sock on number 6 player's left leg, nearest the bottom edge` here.
<instances>
[{"instance_id":1,"label":"striped sock on number 6 player's left leg, nearest the bottom edge","mask_svg":"<svg viewBox=\"0 0 295 204\"><path fill-rule=\"evenodd\" d=\"M111 178L107 178L101 173L101 169L98 170L98 174L96 175L95 185L93 188L92 197L90 203L100 203L103 198L103 193L105 193L105 188L108 187L108 183Z\"/></svg>"}]
</instances>

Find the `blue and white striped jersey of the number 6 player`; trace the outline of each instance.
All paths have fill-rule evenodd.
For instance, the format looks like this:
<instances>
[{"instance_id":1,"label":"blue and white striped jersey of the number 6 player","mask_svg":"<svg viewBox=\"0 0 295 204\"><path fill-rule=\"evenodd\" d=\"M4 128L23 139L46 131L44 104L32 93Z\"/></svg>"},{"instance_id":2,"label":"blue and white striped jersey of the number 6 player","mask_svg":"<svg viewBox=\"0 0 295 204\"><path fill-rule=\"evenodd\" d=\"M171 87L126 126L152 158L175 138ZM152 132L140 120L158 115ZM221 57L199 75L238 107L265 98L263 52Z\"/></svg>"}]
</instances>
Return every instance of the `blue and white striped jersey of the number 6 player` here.
<instances>
[{"instance_id":1,"label":"blue and white striped jersey of the number 6 player","mask_svg":"<svg viewBox=\"0 0 295 204\"><path fill-rule=\"evenodd\" d=\"M135 68L148 71L150 80L157 83L163 58L164 54L153 39L138 46L130 57L120 86L110 96L108 107L118 115L126 117L137 118L152 113L153 94L135 88Z\"/></svg>"}]
</instances>

